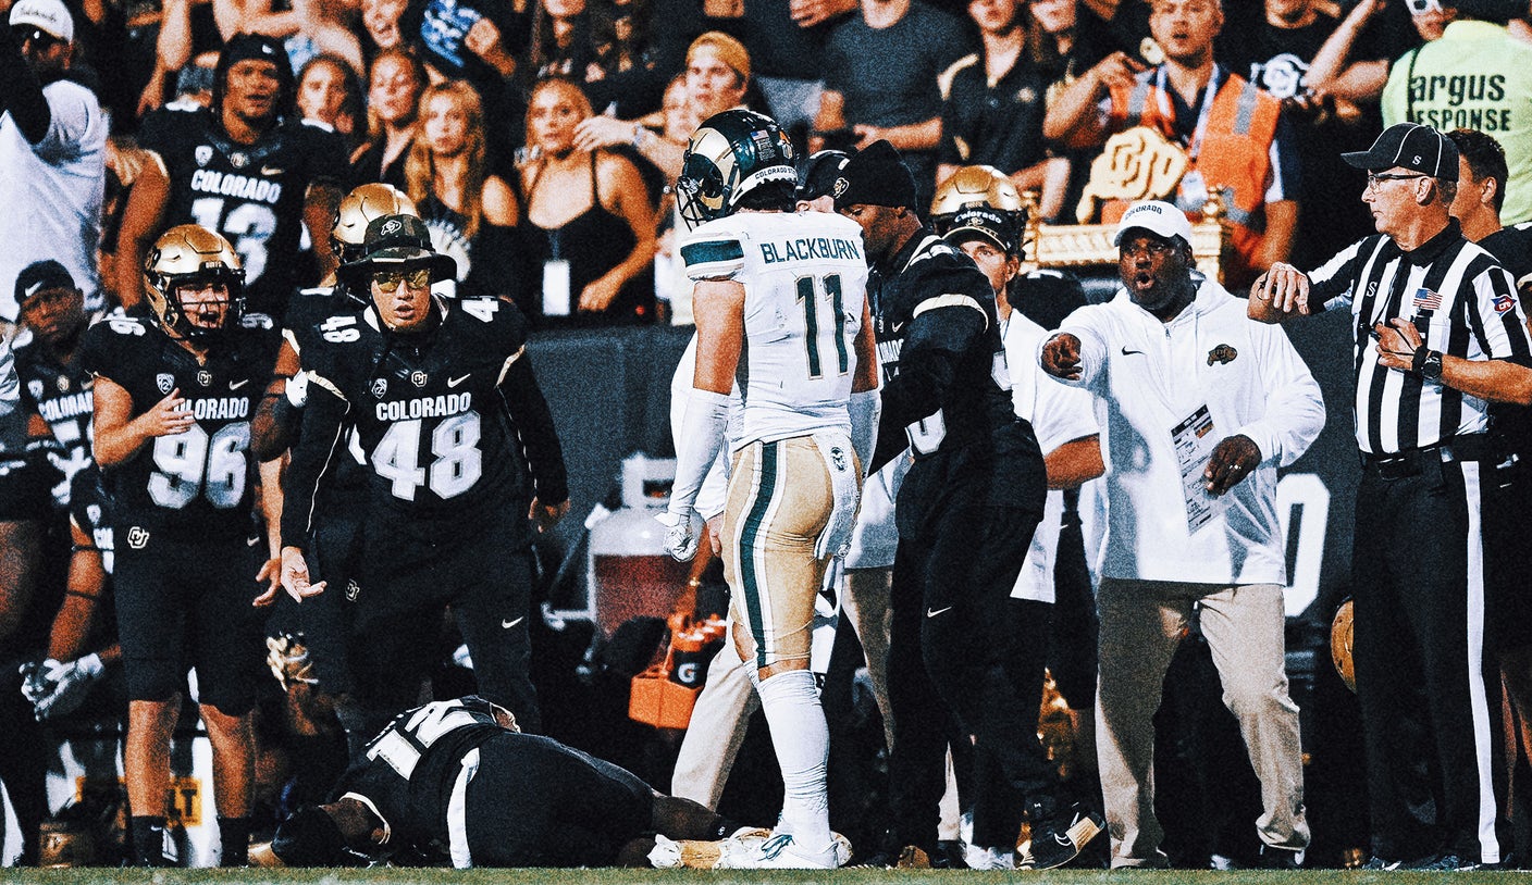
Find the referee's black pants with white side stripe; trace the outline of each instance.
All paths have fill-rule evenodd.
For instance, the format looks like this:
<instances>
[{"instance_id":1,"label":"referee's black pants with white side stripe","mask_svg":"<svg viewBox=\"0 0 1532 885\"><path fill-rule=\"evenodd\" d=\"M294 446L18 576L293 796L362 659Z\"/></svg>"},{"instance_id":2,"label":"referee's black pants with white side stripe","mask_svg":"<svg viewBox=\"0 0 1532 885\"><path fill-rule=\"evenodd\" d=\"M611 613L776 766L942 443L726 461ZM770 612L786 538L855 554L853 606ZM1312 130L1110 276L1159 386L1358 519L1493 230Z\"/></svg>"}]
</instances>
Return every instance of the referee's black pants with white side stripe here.
<instances>
[{"instance_id":1,"label":"referee's black pants with white side stripe","mask_svg":"<svg viewBox=\"0 0 1532 885\"><path fill-rule=\"evenodd\" d=\"M1373 854L1500 862L1500 672L1485 643L1478 461L1367 464L1351 583Z\"/></svg>"}]
</instances>

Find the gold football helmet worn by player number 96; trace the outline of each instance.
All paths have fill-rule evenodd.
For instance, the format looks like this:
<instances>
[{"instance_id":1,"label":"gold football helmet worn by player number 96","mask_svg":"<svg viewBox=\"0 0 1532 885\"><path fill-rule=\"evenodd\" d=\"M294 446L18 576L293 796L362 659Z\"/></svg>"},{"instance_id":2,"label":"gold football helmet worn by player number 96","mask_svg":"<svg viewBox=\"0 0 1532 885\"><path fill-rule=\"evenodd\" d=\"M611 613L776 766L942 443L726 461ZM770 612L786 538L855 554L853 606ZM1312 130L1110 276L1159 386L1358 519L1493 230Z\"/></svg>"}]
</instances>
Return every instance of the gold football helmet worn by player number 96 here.
<instances>
[{"instance_id":1,"label":"gold football helmet worn by player number 96","mask_svg":"<svg viewBox=\"0 0 1532 885\"><path fill-rule=\"evenodd\" d=\"M228 288L228 309L218 325L187 317L181 286ZM173 338L207 338L239 325L245 306L245 271L228 240L201 225L176 225L159 234L144 260L144 291L159 326Z\"/></svg>"}]
</instances>

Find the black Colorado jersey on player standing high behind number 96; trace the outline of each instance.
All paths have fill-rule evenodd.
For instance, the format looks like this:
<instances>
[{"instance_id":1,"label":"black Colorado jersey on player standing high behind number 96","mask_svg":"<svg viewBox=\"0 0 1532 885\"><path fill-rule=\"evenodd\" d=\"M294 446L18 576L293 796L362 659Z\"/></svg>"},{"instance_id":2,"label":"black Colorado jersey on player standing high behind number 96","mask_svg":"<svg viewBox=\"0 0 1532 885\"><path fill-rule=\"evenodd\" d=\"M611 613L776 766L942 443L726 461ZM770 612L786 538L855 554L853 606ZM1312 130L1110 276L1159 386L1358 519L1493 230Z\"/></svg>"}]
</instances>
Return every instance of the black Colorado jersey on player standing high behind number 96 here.
<instances>
[{"instance_id":1,"label":"black Colorado jersey on player standing high behind number 96","mask_svg":"<svg viewBox=\"0 0 1532 885\"><path fill-rule=\"evenodd\" d=\"M280 317L297 283L308 187L339 187L346 175L342 138L283 118L256 144L237 144L211 110L162 110L144 118L138 141L170 175L164 227L224 234L244 263L250 311Z\"/></svg>"}]
</instances>

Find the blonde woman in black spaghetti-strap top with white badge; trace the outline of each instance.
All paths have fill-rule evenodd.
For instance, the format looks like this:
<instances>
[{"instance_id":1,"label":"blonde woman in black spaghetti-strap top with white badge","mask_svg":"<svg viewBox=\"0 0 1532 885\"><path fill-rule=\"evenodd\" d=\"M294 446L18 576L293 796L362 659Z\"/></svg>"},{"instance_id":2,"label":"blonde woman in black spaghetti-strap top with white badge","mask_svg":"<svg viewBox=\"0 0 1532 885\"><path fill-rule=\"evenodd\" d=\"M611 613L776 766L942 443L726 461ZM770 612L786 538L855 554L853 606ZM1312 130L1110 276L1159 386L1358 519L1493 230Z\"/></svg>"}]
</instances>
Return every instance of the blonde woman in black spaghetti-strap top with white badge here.
<instances>
[{"instance_id":1,"label":"blonde woman in black spaghetti-strap top with white badge","mask_svg":"<svg viewBox=\"0 0 1532 885\"><path fill-rule=\"evenodd\" d=\"M653 322L654 208L631 161L574 147L576 126L590 116L590 100L568 80L532 90L533 159L521 165L521 190L527 254L544 268L544 297L527 312L579 325Z\"/></svg>"}]
</instances>

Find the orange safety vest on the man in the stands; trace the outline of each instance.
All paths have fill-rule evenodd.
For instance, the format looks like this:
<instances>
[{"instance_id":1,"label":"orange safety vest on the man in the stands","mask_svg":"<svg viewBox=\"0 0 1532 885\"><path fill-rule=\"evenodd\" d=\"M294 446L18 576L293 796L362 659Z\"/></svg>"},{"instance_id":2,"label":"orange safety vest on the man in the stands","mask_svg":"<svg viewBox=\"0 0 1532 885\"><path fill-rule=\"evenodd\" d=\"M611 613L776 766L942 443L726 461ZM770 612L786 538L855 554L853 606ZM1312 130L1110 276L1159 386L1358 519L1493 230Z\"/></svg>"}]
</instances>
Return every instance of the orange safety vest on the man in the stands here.
<instances>
[{"instance_id":1,"label":"orange safety vest on the man in the stands","mask_svg":"<svg viewBox=\"0 0 1532 885\"><path fill-rule=\"evenodd\" d=\"M1132 87L1112 89L1112 132L1149 126L1166 138L1175 138L1175 122L1166 119L1161 107L1174 107L1169 96L1158 95L1149 77L1140 77ZM1272 141L1276 138L1276 122L1282 104L1256 89L1252 83L1230 73L1213 95L1213 107L1207 115L1207 129L1198 155L1192 158L1187 171L1198 170L1209 188L1224 188L1224 205L1233 222L1230 256L1224 268L1229 285L1241 285L1255 279L1252 266L1261 251L1265 236L1265 187L1272 176ZM1128 210L1123 201L1111 201L1102 207L1102 222L1114 224ZM1193 222L1200 214L1187 213Z\"/></svg>"}]
</instances>

